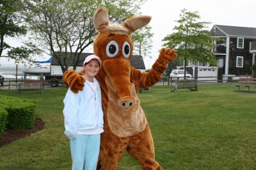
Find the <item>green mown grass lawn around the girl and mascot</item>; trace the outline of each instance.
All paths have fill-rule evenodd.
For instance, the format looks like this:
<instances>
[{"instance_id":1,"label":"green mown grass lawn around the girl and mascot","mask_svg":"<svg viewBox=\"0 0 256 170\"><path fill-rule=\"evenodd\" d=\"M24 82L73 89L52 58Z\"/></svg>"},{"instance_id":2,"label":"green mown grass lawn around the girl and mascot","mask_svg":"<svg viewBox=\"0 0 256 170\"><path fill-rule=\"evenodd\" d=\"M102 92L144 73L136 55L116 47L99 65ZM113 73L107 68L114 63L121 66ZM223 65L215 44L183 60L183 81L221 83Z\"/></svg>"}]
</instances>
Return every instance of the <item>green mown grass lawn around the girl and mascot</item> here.
<instances>
[{"instance_id":1,"label":"green mown grass lawn around the girl and mascot","mask_svg":"<svg viewBox=\"0 0 256 170\"><path fill-rule=\"evenodd\" d=\"M256 88L234 84L199 85L198 91L170 92L154 86L140 93L163 169L256 169ZM0 148L0 169L70 169L69 141L63 134L63 98L67 88L0 90L0 94L36 101L44 130ZM127 153L118 169L141 169Z\"/></svg>"}]
</instances>

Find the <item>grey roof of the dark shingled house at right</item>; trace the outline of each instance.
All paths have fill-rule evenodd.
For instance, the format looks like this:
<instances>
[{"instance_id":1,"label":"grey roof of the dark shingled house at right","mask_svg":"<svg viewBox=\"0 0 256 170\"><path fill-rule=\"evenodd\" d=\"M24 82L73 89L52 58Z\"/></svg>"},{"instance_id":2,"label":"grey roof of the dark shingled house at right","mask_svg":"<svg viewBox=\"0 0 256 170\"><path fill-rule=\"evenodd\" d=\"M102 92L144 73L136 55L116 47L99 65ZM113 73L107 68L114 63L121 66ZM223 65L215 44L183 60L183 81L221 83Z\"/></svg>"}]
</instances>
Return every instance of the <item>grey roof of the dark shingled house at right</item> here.
<instances>
[{"instance_id":1,"label":"grey roof of the dark shingled house at right","mask_svg":"<svg viewBox=\"0 0 256 170\"><path fill-rule=\"evenodd\" d=\"M255 37L256 38L256 28L255 27L236 27L236 26L222 26L222 25L214 25L222 33L226 36L248 36L248 37ZM211 29L211 33L213 33L214 26ZM221 36L216 35L215 36Z\"/></svg>"}]
</instances>

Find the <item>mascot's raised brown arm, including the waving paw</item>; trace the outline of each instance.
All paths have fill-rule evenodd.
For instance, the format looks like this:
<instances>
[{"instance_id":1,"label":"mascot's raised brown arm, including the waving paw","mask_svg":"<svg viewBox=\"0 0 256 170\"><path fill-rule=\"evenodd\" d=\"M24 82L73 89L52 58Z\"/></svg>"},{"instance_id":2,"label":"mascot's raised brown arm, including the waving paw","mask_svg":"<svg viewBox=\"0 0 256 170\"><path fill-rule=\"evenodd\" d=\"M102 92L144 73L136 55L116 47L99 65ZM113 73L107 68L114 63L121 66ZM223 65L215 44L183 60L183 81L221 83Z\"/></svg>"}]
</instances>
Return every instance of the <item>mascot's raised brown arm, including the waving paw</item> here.
<instances>
[{"instance_id":1,"label":"mascot's raised brown arm, including the waving paw","mask_svg":"<svg viewBox=\"0 0 256 170\"><path fill-rule=\"evenodd\" d=\"M136 82L139 82L140 88L148 88L153 86L161 79L161 75L167 67L167 64L177 58L177 54L174 50L171 49L161 49L159 57L156 62L147 72L140 72L133 68L131 70L131 79L134 79Z\"/></svg>"}]
</instances>

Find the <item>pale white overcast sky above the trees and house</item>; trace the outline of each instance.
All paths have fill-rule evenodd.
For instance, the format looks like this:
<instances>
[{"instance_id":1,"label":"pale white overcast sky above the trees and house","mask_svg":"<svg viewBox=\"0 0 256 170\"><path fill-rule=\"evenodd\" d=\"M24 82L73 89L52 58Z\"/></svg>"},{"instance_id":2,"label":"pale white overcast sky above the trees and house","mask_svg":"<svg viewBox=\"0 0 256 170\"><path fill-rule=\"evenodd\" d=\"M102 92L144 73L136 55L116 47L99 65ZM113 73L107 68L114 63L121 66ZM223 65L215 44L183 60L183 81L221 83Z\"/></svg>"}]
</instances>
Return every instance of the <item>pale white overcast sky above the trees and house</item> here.
<instances>
[{"instance_id":1,"label":"pale white overcast sky above the trees and house","mask_svg":"<svg viewBox=\"0 0 256 170\"><path fill-rule=\"evenodd\" d=\"M165 36L173 33L173 27L177 25L175 20L179 20L179 14L182 9L189 12L198 11L200 21L211 22L209 30L214 24L225 26L256 27L255 0L148 0L141 6L141 15L150 15L152 17L149 25L152 27L152 50L151 59L143 58L146 69L151 68L156 61L159 50L163 47L162 40ZM19 41L12 40L17 45ZM42 58L42 60L47 58ZM14 61L6 61L0 58L0 64L14 65Z\"/></svg>"}]
</instances>

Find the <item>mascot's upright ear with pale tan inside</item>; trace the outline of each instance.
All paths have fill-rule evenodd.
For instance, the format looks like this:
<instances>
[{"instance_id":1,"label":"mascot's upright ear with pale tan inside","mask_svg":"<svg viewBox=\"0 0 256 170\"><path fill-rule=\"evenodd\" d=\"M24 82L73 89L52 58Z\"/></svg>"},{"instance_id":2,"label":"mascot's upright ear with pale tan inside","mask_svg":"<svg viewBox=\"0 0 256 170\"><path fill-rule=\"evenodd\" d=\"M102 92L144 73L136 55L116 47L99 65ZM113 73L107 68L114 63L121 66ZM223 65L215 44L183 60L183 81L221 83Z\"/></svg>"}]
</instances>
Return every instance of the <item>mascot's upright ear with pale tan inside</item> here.
<instances>
[{"instance_id":1,"label":"mascot's upright ear with pale tan inside","mask_svg":"<svg viewBox=\"0 0 256 170\"><path fill-rule=\"evenodd\" d=\"M97 31L102 32L108 27L108 10L104 7L98 8L93 15L93 24Z\"/></svg>"}]
</instances>

